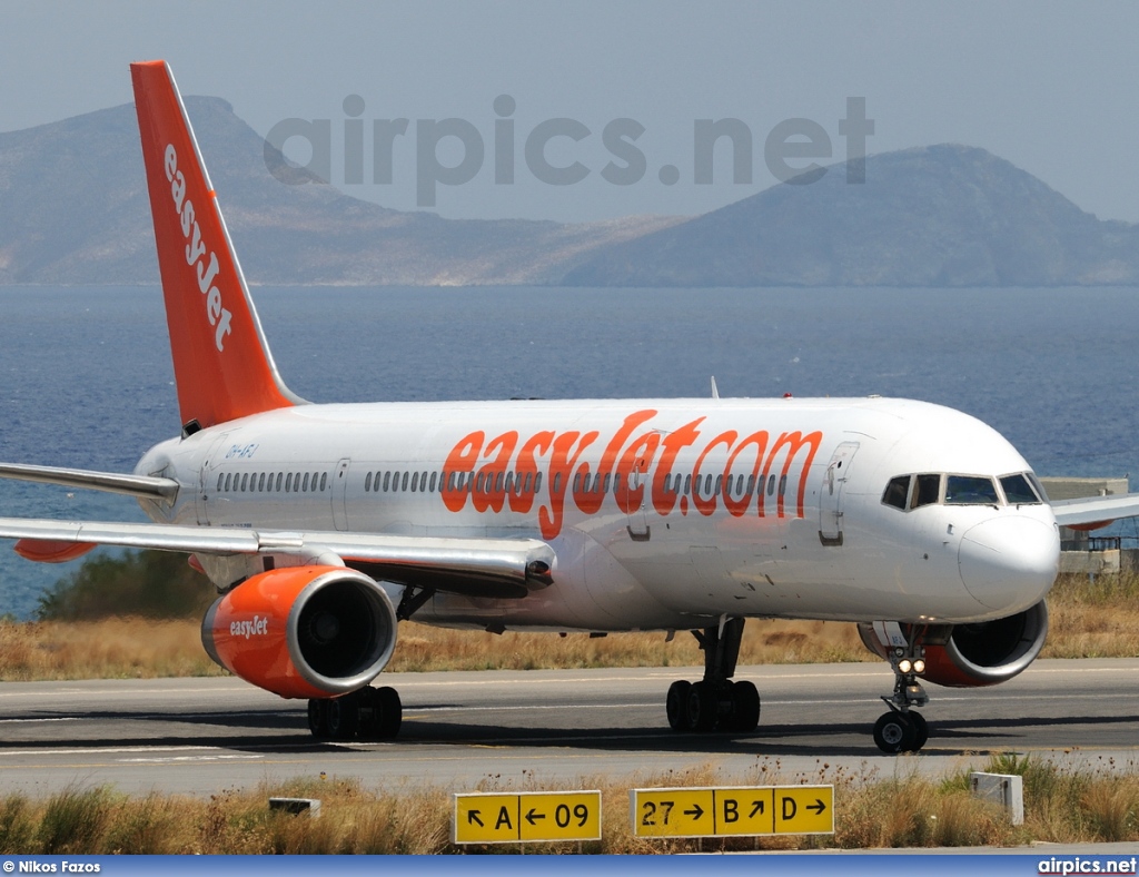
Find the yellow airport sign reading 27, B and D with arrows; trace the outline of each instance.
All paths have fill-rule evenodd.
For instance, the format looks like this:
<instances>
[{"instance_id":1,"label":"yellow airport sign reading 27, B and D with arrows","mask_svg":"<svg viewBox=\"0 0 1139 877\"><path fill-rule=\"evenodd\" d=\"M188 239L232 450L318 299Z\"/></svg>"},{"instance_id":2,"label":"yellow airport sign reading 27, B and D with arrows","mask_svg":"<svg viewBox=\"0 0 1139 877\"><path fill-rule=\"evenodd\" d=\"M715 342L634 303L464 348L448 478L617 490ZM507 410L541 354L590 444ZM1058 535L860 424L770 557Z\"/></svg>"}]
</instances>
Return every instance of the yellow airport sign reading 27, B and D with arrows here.
<instances>
[{"instance_id":1,"label":"yellow airport sign reading 27, B and D with arrows","mask_svg":"<svg viewBox=\"0 0 1139 877\"><path fill-rule=\"evenodd\" d=\"M632 789L637 837L834 834L834 786Z\"/></svg>"}]
</instances>

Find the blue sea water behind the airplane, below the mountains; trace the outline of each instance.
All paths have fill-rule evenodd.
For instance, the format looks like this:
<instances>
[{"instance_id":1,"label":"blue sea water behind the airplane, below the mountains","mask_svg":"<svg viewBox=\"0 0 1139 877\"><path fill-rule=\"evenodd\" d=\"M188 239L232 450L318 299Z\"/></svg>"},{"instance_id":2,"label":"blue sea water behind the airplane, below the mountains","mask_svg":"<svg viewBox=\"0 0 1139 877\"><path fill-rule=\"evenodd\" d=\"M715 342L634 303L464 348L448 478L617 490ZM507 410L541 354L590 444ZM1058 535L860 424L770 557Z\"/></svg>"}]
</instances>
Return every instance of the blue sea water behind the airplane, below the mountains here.
<instances>
[{"instance_id":1,"label":"blue sea water behind the airplane, below the mountains","mask_svg":"<svg viewBox=\"0 0 1139 877\"><path fill-rule=\"evenodd\" d=\"M921 399L1041 475L1139 475L1139 289L255 287L281 376L314 402ZM180 428L156 287L0 288L0 460L130 472ZM1136 489L1134 478L1132 490ZM125 497L0 480L0 516L142 521ZM0 615L80 562L0 541Z\"/></svg>"}]
</instances>

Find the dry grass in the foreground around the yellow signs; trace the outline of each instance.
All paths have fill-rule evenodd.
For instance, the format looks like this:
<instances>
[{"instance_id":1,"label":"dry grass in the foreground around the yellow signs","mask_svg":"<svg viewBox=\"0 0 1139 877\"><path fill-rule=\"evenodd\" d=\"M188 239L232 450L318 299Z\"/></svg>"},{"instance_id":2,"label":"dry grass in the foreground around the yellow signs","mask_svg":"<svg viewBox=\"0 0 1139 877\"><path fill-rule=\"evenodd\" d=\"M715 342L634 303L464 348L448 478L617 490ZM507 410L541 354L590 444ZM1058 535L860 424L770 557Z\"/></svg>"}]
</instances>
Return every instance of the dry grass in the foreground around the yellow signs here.
<instances>
[{"instance_id":1,"label":"dry grass in the foreground around the yellow signs","mask_svg":"<svg viewBox=\"0 0 1139 877\"><path fill-rule=\"evenodd\" d=\"M1025 823L1013 826L994 805L969 796L966 774L941 781L916 773L879 780L820 764L812 776L786 776L761 762L738 785L835 786L834 835L731 839L645 839L629 826L629 789L723 785L711 765L614 780L582 778L562 788L599 788L601 841L527 844L539 853L682 853L704 850L1009 846L1032 842L1139 842L1139 777L1065 772L1047 763L997 756L990 770L1024 776ZM522 787L487 779L486 792ZM270 796L314 797L319 818L268 809ZM459 849L451 843L450 794L439 787L377 793L354 779L296 779L229 790L208 800L130 797L106 787L68 788L47 800L0 798L0 854L7 853L457 853L519 852L517 846Z\"/></svg>"}]
</instances>

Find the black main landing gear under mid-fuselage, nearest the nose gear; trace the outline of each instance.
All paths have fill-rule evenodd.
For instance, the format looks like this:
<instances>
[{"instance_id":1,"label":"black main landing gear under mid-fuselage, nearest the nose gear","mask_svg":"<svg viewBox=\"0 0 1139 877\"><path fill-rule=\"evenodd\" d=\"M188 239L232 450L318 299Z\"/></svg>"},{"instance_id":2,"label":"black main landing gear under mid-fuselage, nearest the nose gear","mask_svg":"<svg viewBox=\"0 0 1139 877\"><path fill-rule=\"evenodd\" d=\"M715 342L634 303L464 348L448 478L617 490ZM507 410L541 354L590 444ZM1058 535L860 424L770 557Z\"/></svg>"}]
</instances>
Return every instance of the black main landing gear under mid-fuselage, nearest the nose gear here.
<instances>
[{"instance_id":1,"label":"black main landing gear under mid-fuselage, nearest the nose gear","mask_svg":"<svg viewBox=\"0 0 1139 877\"><path fill-rule=\"evenodd\" d=\"M669 724L677 731L754 731L760 723L760 692L751 682L731 681L744 618L691 633L704 650L704 679L672 683L665 702Z\"/></svg>"}]
</instances>

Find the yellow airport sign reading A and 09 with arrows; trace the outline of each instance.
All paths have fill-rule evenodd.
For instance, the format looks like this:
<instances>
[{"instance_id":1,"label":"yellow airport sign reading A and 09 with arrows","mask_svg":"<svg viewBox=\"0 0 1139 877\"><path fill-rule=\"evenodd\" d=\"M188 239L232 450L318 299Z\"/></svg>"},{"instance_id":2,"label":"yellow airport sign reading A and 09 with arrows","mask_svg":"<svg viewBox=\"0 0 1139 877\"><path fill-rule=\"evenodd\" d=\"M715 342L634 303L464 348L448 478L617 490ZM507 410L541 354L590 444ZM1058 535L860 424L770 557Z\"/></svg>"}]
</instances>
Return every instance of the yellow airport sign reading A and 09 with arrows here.
<instances>
[{"instance_id":1,"label":"yellow airport sign reading A and 09 with arrows","mask_svg":"<svg viewBox=\"0 0 1139 877\"><path fill-rule=\"evenodd\" d=\"M457 794L453 829L457 844L599 841L601 793Z\"/></svg>"}]
</instances>

